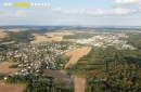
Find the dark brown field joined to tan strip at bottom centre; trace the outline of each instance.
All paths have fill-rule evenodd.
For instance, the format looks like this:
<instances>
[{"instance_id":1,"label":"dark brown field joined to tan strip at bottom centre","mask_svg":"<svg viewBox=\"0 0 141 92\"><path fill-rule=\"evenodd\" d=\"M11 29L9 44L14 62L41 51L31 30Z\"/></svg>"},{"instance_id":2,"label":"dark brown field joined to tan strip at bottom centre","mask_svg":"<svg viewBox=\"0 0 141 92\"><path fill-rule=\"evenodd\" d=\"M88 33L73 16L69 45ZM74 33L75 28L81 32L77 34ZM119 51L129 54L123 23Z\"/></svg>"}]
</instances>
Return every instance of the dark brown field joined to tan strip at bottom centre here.
<instances>
[{"instance_id":1,"label":"dark brown field joined to tan strip at bottom centre","mask_svg":"<svg viewBox=\"0 0 141 92\"><path fill-rule=\"evenodd\" d=\"M85 88L87 87L86 78L78 78L76 76L69 77L64 71L57 71L57 70L51 70L46 69L44 71L46 76L54 77L55 83L62 83L64 82L65 86L74 87L74 92L85 92Z\"/></svg>"}]
</instances>

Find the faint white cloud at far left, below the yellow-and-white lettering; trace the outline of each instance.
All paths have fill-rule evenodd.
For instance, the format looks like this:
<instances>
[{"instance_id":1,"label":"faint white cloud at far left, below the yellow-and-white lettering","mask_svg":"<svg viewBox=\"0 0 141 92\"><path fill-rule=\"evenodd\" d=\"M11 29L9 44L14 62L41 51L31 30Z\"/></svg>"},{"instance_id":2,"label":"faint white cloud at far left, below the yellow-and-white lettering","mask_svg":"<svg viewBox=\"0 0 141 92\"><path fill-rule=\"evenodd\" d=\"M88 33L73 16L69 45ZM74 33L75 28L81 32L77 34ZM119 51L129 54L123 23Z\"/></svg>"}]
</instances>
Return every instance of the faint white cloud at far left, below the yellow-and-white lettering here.
<instances>
[{"instance_id":1,"label":"faint white cloud at far left, below the yellow-and-white lettering","mask_svg":"<svg viewBox=\"0 0 141 92\"><path fill-rule=\"evenodd\" d=\"M1 16L2 17L7 17L7 16L9 16L9 17L25 17L25 16L27 16L26 13L27 13L26 11L16 11L14 13L13 12L5 12Z\"/></svg>"}]
</instances>

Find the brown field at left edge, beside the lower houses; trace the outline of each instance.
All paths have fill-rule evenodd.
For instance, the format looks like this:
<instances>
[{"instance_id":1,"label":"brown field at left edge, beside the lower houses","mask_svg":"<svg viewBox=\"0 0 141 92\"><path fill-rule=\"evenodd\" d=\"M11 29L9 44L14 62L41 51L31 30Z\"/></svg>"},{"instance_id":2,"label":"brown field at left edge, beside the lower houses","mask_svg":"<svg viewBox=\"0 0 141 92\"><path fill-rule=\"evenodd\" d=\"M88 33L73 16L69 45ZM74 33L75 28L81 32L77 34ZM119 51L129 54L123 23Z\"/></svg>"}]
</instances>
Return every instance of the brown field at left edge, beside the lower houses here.
<instances>
[{"instance_id":1,"label":"brown field at left edge, beside the lower houses","mask_svg":"<svg viewBox=\"0 0 141 92\"><path fill-rule=\"evenodd\" d=\"M2 62L0 63L0 74L12 74L17 71L17 68L9 68L9 66L13 65L15 63L9 63L9 62Z\"/></svg>"}]
</instances>

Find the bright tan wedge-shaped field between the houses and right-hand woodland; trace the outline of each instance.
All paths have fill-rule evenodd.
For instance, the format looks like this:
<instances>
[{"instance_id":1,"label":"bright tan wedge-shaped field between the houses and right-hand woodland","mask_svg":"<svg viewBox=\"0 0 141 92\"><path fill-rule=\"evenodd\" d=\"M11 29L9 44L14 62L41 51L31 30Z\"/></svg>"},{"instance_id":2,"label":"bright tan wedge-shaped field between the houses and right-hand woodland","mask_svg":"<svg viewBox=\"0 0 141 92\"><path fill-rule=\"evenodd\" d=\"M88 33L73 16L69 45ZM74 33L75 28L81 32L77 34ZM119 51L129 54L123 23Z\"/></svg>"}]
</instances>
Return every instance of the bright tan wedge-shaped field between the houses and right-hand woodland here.
<instances>
[{"instance_id":1,"label":"bright tan wedge-shaped field between the houses and right-hand woodland","mask_svg":"<svg viewBox=\"0 0 141 92\"><path fill-rule=\"evenodd\" d=\"M87 55L89 52L90 50L88 49L76 49L74 51L65 53L65 55L72 56L69 62L65 65L65 67L73 67L80 57Z\"/></svg>"}]
</instances>

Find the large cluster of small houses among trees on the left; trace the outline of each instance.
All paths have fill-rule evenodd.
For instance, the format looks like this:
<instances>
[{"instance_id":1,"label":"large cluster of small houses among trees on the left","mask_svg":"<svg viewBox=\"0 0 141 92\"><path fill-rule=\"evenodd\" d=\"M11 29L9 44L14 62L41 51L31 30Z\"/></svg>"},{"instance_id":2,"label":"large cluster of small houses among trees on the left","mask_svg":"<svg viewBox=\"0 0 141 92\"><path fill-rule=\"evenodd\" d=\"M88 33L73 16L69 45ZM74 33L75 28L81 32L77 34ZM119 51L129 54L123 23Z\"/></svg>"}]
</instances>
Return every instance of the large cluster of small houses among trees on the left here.
<instances>
[{"instance_id":1,"label":"large cluster of small houses among trees on the left","mask_svg":"<svg viewBox=\"0 0 141 92\"><path fill-rule=\"evenodd\" d=\"M56 56L64 54L70 50L74 50L72 45L67 50L61 50L60 48L69 45L61 44L60 42L42 42L42 43L18 43L17 50L3 51L0 54L0 61L13 61L16 62L18 71L9 75L28 75L40 73L42 62L47 64L46 68L54 69L59 66L56 63ZM64 66L60 64L61 66Z\"/></svg>"}]
</instances>

